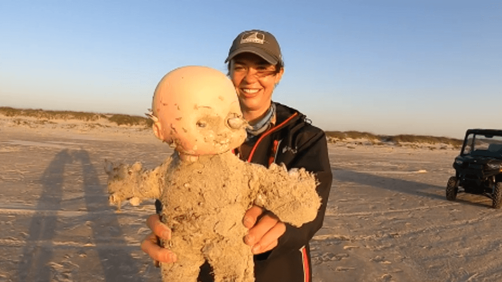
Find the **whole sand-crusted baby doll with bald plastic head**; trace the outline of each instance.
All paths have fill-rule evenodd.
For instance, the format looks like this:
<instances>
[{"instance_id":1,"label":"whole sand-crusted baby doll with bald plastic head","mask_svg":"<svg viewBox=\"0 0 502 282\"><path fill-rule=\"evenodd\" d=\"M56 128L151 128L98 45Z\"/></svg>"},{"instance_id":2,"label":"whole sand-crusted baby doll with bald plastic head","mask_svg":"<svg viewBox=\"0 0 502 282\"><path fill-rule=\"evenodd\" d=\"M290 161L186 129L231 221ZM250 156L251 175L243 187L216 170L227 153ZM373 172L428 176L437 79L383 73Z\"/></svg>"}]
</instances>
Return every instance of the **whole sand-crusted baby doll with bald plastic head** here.
<instances>
[{"instance_id":1,"label":"whole sand-crusted baby doll with bald plastic head","mask_svg":"<svg viewBox=\"0 0 502 282\"><path fill-rule=\"evenodd\" d=\"M171 240L162 243L178 256L161 265L164 281L195 282L205 260L217 282L254 281L243 214L257 204L295 226L313 220L320 205L315 177L303 169L243 162L230 151L242 143L245 122L231 82L218 71L185 67L169 73L153 107L156 136L176 152L153 170L140 163L109 167L110 202L161 200L162 221L172 229Z\"/></svg>"}]
</instances>

